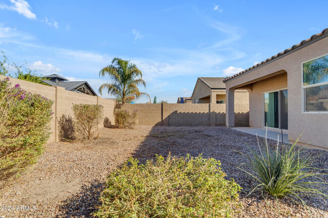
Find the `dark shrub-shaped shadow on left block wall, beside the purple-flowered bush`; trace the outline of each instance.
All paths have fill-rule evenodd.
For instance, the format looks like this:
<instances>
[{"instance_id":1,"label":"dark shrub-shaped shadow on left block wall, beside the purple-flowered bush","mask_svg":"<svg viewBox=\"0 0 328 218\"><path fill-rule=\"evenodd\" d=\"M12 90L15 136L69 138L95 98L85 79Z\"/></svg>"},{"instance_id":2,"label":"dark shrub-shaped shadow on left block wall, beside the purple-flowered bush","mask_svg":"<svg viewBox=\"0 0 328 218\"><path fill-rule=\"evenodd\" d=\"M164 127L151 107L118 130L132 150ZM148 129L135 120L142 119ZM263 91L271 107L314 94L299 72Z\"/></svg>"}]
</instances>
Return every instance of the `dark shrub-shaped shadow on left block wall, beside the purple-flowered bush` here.
<instances>
[{"instance_id":1,"label":"dark shrub-shaped shadow on left block wall, beside the purple-flowered bush","mask_svg":"<svg viewBox=\"0 0 328 218\"><path fill-rule=\"evenodd\" d=\"M73 118L63 114L58 121L58 137L61 141L71 141L75 139L75 128Z\"/></svg>"}]
</instances>

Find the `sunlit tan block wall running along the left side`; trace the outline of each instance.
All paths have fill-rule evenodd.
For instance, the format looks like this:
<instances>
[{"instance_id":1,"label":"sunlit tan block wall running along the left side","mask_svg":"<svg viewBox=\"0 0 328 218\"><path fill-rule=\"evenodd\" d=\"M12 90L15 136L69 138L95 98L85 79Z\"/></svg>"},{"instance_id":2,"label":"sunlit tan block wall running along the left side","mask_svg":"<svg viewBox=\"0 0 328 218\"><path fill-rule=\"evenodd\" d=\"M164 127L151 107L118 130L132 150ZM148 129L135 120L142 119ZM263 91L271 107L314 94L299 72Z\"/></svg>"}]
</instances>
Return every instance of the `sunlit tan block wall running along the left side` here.
<instances>
[{"instance_id":1,"label":"sunlit tan block wall running along the left side","mask_svg":"<svg viewBox=\"0 0 328 218\"><path fill-rule=\"evenodd\" d=\"M4 76L0 76L0 80L4 80L5 78ZM73 117L73 104L101 104L104 106L104 117L107 117L114 124L115 100L67 91L63 87L45 86L14 78L10 78L10 82L12 86L19 84L27 92L39 94L53 101L51 109L54 114L50 121L51 134L48 142L58 141L58 121L63 114ZM102 126L103 123L99 125L99 127Z\"/></svg>"}]
</instances>

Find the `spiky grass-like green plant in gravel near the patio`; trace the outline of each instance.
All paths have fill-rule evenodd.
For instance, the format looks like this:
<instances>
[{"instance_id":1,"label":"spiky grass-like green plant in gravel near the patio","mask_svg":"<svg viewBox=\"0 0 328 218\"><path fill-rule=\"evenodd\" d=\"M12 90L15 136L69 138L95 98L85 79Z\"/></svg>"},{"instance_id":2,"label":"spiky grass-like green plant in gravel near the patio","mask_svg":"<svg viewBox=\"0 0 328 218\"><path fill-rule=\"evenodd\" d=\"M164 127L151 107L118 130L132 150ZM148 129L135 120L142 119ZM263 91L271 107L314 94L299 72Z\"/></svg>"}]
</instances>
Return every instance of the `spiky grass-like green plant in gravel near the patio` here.
<instances>
[{"instance_id":1,"label":"spiky grass-like green plant in gravel near the patio","mask_svg":"<svg viewBox=\"0 0 328 218\"><path fill-rule=\"evenodd\" d=\"M245 164L250 166L251 171L241 170L258 183L251 192L256 189L265 191L277 201L282 197L294 201L293 197L295 197L303 205L306 205L302 198L304 195L327 198L327 195L321 191L326 189L327 183L320 179L320 176L326 173L315 172L324 169L314 168L317 157L313 157L304 148L296 148L296 143L297 141L281 148L277 144L274 150L265 140L264 144L258 143L259 151L249 148L251 155L245 155L249 161Z\"/></svg>"}]
</instances>

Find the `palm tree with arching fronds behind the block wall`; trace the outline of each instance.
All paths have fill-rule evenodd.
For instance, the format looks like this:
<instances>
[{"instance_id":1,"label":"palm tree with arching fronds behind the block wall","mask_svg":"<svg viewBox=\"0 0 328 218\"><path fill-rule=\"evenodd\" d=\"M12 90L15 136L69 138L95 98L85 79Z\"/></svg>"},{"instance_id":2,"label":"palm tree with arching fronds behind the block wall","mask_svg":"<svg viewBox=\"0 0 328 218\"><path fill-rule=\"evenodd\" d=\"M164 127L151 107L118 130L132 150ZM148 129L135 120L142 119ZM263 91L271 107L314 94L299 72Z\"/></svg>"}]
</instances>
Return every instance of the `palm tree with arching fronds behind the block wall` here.
<instances>
[{"instance_id":1,"label":"palm tree with arching fronds behind the block wall","mask_svg":"<svg viewBox=\"0 0 328 218\"><path fill-rule=\"evenodd\" d=\"M105 89L108 94L111 93L122 99L123 104L146 95L146 93L139 92L138 89L139 85L146 87L145 81L142 80L142 73L136 64L130 63L130 60L114 58L111 65L100 70L99 77L105 76L110 77L113 83L102 84L99 87L100 95Z\"/></svg>"}]
</instances>

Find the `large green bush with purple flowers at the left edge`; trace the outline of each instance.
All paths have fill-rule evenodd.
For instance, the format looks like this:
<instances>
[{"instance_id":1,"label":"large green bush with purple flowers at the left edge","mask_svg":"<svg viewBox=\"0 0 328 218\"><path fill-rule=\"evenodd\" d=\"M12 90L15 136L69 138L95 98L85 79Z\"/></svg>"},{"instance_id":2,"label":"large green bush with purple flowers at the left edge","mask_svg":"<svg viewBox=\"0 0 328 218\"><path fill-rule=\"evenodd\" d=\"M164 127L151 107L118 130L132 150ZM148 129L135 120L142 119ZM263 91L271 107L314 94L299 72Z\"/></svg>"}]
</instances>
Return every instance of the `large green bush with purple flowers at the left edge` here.
<instances>
[{"instance_id":1,"label":"large green bush with purple flowers at the left edge","mask_svg":"<svg viewBox=\"0 0 328 218\"><path fill-rule=\"evenodd\" d=\"M50 135L52 101L0 81L0 175L7 180L34 163Z\"/></svg>"}]
</instances>

